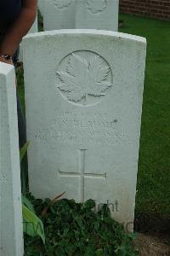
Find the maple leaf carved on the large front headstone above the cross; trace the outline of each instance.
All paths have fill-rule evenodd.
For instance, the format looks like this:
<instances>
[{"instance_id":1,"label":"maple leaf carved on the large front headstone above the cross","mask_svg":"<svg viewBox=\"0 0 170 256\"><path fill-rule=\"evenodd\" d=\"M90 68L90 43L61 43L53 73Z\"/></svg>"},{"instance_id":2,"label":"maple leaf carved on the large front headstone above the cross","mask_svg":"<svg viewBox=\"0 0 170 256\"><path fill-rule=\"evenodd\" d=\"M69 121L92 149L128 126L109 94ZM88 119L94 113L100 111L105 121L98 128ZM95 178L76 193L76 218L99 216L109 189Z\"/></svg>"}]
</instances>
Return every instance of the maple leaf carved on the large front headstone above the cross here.
<instances>
[{"instance_id":1,"label":"maple leaf carved on the large front headstone above the cross","mask_svg":"<svg viewBox=\"0 0 170 256\"><path fill-rule=\"evenodd\" d=\"M111 86L108 75L109 65L99 55L84 58L75 53L69 57L65 72L57 72L58 88L67 92L68 100L79 102L88 96L104 96L105 90Z\"/></svg>"}]
</instances>

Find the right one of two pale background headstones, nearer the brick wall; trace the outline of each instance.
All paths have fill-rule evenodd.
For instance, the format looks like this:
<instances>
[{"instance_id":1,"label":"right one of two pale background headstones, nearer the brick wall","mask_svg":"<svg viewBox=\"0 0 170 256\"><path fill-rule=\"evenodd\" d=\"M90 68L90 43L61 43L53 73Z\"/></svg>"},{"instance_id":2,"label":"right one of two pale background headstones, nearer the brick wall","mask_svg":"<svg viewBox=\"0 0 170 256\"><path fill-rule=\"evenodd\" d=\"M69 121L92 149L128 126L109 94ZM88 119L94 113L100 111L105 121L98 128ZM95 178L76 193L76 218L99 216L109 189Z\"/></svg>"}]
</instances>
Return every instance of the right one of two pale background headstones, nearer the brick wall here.
<instances>
[{"instance_id":1,"label":"right one of two pale background headstones, nearer the brick wall","mask_svg":"<svg viewBox=\"0 0 170 256\"><path fill-rule=\"evenodd\" d=\"M77 0L76 28L118 30L119 0Z\"/></svg>"}]
</instances>

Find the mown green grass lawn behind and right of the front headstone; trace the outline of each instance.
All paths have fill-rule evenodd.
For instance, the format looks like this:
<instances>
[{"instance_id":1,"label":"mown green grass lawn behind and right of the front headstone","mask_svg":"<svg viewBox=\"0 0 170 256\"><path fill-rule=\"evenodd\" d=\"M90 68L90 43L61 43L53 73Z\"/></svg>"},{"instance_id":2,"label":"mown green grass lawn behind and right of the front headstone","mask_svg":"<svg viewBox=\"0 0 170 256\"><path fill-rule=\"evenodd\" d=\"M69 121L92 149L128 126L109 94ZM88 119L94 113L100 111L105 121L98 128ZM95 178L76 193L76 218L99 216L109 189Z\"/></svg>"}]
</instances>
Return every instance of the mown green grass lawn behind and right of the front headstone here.
<instances>
[{"instance_id":1,"label":"mown green grass lawn behind and right of the front headstone","mask_svg":"<svg viewBox=\"0 0 170 256\"><path fill-rule=\"evenodd\" d=\"M147 39L136 213L170 217L170 22L120 15L121 32ZM22 103L23 80L19 91Z\"/></svg>"}]
</instances>

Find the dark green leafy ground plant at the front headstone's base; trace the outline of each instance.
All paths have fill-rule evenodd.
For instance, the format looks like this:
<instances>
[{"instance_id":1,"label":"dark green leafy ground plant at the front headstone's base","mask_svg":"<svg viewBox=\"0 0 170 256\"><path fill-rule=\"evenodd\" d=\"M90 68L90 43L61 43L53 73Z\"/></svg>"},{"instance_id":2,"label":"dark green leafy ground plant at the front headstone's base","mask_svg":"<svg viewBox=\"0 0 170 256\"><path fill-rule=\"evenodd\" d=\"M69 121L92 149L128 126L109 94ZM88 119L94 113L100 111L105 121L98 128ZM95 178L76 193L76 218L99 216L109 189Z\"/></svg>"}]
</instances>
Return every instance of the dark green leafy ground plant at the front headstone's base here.
<instances>
[{"instance_id":1,"label":"dark green leafy ground plant at the front headstone's base","mask_svg":"<svg viewBox=\"0 0 170 256\"><path fill-rule=\"evenodd\" d=\"M95 212L93 200L76 203L62 199L54 202L37 200L31 195L29 200L42 218L46 243L43 245L38 237L26 235L26 256L138 255L133 247L133 236L111 218L107 205Z\"/></svg>"}]
</instances>

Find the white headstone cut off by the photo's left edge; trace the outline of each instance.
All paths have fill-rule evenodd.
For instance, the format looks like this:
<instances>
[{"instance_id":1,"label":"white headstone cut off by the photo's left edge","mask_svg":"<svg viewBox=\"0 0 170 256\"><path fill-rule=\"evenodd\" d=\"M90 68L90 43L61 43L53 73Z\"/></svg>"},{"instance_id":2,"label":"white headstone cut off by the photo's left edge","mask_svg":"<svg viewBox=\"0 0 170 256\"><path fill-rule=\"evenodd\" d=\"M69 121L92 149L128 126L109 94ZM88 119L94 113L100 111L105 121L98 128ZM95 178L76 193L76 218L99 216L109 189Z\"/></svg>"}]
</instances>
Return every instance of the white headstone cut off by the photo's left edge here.
<instances>
[{"instance_id":1,"label":"white headstone cut off by the photo's left edge","mask_svg":"<svg viewBox=\"0 0 170 256\"><path fill-rule=\"evenodd\" d=\"M14 67L0 62L0 255L23 255Z\"/></svg>"}]
</instances>

